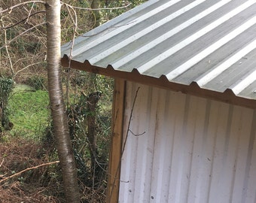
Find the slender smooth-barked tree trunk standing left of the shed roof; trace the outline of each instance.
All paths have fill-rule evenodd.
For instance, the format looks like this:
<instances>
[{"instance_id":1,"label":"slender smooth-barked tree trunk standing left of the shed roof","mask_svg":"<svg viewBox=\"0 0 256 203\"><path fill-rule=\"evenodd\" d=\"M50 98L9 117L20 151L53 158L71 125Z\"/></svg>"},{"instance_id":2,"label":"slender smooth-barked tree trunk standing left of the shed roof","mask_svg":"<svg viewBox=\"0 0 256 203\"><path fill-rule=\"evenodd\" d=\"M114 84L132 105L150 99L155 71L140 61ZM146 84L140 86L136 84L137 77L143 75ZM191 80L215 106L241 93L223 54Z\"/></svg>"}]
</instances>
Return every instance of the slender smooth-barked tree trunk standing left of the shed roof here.
<instances>
[{"instance_id":1,"label":"slender smooth-barked tree trunk standing left of the shed roof","mask_svg":"<svg viewBox=\"0 0 256 203\"><path fill-rule=\"evenodd\" d=\"M47 0L47 76L53 129L62 169L66 202L79 203L80 195L66 107L62 94L60 70L60 2Z\"/></svg>"}]
</instances>

